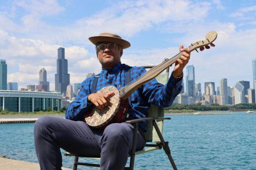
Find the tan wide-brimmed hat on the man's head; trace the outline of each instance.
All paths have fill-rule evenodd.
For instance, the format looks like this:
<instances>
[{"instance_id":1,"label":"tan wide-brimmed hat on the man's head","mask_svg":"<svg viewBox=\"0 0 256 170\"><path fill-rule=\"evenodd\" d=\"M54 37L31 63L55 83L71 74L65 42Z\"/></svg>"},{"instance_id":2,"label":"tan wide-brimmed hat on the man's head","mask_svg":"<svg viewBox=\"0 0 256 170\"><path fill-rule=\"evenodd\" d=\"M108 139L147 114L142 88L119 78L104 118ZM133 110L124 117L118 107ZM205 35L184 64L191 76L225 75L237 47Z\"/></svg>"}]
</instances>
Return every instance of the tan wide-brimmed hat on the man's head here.
<instances>
[{"instance_id":1,"label":"tan wide-brimmed hat on the man's head","mask_svg":"<svg viewBox=\"0 0 256 170\"><path fill-rule=\"evenodd\" d=\"M98 42L113 42L117 45L122 46L123 49L129 48L131 46L130 42L123 40L119 35L112 33L100 33L99 36L90 37L90 42L97 45Z\"/></svg>"}]
</instances>

